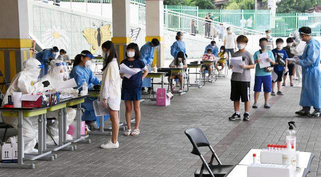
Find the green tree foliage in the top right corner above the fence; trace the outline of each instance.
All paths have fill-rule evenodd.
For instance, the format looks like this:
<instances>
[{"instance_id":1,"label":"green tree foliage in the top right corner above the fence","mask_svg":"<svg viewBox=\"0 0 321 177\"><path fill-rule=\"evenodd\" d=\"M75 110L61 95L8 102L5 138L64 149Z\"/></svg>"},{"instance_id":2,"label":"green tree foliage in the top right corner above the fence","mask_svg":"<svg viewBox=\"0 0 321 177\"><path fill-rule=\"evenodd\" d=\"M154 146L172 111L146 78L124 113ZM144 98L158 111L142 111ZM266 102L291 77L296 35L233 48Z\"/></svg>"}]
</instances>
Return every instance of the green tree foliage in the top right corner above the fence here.
<instances>
[{"instance_id":1,"label":"green tree foliage in the top right corner above the fence","mask_svg":"<svg viewBox=\"0 0 321 177\"><path fill-rule=\"evenodd\" d=\"M321 0L281 0L276 3L276 12L304 12L304 10L307 10L308 8L315 7L316 4L321 4Z\"/></svg>"}]
</instances>

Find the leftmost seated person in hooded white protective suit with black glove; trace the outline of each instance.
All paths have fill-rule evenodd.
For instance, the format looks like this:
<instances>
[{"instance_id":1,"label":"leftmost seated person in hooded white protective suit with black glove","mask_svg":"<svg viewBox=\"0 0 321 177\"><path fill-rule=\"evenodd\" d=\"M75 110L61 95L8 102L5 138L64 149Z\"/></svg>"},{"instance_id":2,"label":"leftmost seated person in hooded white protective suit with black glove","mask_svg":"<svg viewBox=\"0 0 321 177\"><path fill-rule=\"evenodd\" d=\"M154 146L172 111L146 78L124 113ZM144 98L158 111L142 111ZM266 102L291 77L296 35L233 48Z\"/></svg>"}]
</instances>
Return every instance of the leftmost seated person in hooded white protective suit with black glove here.
<instances>
[{"instance_id":1,"label":"leftmost seated person in hooded white protective suit with black glove","mask_svg":"<svg viewBox=\"0 0 321 177\"><path fill-rule=\"evenodd\" d=\"M41 62L38 59L30 58L24 61L24 69L16 74L13 78L2 103L8 103L8 95L13 92L22 92L22 94L43 92L48 90L49 81L38 82L38 77L41 71ZM38 139L38 116L35 117L24 117L23 120L23 136L25 153L38 152L35 149L35 145ZM15 129L18 129L18 117L3 117L5 123L12 125ZM35 121L32 121L35 120ZM33 123L34 122L34 123ZM18 136L13 136L18 141Z\"/></svg>"}]
</instances>

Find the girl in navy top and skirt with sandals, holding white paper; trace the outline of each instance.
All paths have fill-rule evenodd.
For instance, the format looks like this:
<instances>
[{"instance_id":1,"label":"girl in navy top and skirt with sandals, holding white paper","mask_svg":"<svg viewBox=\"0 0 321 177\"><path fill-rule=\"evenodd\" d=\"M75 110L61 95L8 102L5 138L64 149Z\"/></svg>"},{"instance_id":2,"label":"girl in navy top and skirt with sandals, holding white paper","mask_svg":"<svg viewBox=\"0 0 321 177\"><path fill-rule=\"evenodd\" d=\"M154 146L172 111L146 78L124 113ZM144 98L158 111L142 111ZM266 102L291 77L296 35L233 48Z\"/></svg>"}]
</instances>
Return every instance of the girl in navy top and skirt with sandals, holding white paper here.
<instances>
[{"instance_id":1,"label":"girl in navy top and skirt with sandals, holding white paper","mask_svg":"<svg viewBox=\"0 0 321 177\"><path fill-rule=\"evenodd\" d=\"M122 92L121 99L125 101L126 107L126 122L127 130L124 135L137 136L139 132L139 122L140 122L140 99L141 99L141 86L142 80L148 74L148 68L145 63L139 59L139 47L136 43L129 43L126 48L126 59L122 60L120 64L124 63L126 66L132 69L139 70L136 74L127 78L124 77L124 73L120 73L122 80ZM144 73L142 73L142 70ZM134 105L135 111L135 129L131 132L131 109L132 103Z\"/></svg>"}]
</instances>

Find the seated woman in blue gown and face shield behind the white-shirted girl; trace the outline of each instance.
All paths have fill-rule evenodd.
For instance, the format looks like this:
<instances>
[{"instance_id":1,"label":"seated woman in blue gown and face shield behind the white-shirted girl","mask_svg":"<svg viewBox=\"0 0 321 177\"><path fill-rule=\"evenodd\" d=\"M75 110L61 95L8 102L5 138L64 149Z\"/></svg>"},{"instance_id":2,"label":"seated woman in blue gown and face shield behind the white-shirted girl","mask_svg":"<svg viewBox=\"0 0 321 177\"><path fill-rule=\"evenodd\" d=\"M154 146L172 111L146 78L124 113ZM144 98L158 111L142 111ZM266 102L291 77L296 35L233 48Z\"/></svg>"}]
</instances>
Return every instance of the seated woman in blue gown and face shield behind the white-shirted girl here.
<instances>
[{"instance_id":1,"label":"seated woman in blue gown and face shield behind the white-shirted girl","mask_svg":"<svg viewBox=\"0 0 321 177\"><path fill-rule=\"evenodd\" d=\"M84 80L88 84L88 89L100 89L101 81L92 73L90 68L91 59L94 56L88 50L83 50L80 54L75 56L74 65L70 72L70 78L75 78L77 87L82 86ZM79 89L81 91L82 88ZM92 102L97 97L90 96L85 98L85 102L81 106L85 109L84 114L81 116L82 120L86 121L89 128L97 129L99 127L99 116L95 115ZM109 118L109 115L105 115L104 120ZM96 121L97 120L97 121Z\"/></svg>"}]
</instances>

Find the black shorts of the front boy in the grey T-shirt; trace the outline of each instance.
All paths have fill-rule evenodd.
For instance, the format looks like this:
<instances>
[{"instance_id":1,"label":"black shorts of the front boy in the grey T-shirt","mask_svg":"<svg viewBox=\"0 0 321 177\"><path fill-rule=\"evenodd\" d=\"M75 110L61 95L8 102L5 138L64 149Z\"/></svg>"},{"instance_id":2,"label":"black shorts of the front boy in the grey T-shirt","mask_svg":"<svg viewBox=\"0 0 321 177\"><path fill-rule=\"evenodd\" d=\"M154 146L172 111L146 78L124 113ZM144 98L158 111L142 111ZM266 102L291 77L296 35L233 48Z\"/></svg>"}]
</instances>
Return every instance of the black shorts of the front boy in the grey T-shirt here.
<instances>
[{"instance_id":1,"label":"black shorts of the front boy in the grey T-shirt","mask_svg":"<svg viewBox=\"0 0 321 177\"><path fill-rule=\"evenodd\" d=\"M250 100L250 82L249 81L235 81L231 80L231 97L232 101L242 102Z\"/></svg>"}]
</instances>

